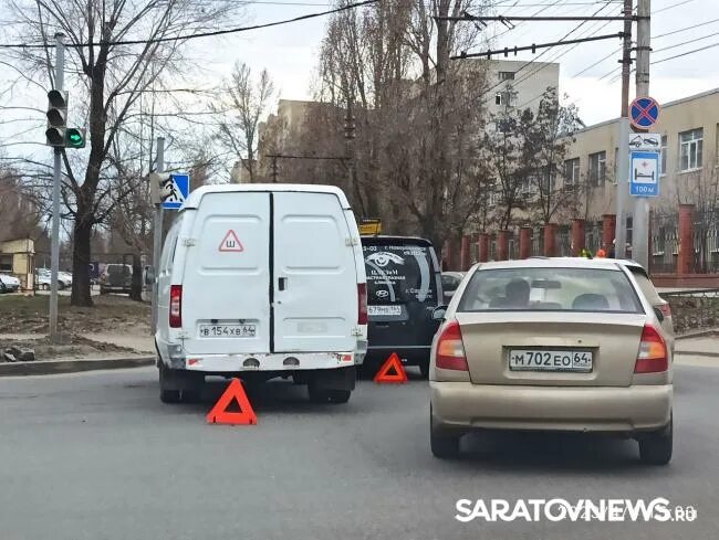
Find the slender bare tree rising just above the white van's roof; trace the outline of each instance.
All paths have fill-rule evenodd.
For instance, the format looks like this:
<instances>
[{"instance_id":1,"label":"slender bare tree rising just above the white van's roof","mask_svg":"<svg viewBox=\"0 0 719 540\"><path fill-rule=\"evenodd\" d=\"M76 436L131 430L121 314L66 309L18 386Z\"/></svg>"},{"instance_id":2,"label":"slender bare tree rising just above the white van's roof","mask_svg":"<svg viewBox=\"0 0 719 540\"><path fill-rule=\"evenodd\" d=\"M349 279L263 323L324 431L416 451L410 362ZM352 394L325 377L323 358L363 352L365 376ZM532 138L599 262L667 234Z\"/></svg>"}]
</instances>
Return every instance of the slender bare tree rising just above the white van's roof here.
<instances>
[{"instance_id":1,"label":"slender bare tree rising just above the white van's roof","mask_svg":"<svg viewBox=\"0 0 719 540\"><path fill-rule=\"evenodd\" d=\"M258 126L273 94L274 84L267 70L253 81L250 66L236 62L219 104L211 105L220 118L218 139L240 160L250 182L257 174Z\"/></svg>"}]
</instances>

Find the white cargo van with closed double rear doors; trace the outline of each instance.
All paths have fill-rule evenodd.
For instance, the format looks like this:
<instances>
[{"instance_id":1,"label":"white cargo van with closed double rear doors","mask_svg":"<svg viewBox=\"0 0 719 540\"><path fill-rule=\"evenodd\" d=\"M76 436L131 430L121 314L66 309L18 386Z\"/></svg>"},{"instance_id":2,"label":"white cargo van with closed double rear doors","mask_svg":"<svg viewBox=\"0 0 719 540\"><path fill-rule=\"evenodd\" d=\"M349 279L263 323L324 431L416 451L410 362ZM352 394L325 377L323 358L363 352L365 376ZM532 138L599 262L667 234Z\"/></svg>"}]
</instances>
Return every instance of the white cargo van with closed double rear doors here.
<instances>
[{"instance_id":1,"label":"white cargo van with closed double rear doors","mask_svg":"<svg viewBox=\"0 0 719 540\"><path fill-rule=\"evenodd\" d=\"M157 269L161 401L199 399L206 374L292 377L344 403L367 348L357 224L329 186L205 186Z\"/></svg>"}]
</instances>

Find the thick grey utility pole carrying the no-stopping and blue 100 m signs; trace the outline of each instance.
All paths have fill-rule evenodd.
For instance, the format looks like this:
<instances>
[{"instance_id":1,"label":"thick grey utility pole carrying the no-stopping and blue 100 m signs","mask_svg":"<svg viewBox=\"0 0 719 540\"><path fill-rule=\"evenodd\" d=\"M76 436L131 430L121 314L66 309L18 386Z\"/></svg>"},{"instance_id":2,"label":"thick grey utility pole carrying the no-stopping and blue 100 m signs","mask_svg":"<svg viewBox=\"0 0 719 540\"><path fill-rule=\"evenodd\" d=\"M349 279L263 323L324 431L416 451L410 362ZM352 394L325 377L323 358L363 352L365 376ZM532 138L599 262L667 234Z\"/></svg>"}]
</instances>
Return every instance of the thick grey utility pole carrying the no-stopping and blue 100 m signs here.
<instances>
[{"instance_id":1,"label":"thick grey utility pole carrying the no-stopping and blue 100 m signs","mask_svg":"<svg viewBox=\"0 0 719 540\"><path fill-rule=\"evenodd\" d=\"M649 55L652 53L652 0L637 2L637 97L649 97ZM658 179L657 179L658 181ZM632 258L649 269L649 199L634 199Z\"/></svg>"}]
</instances>

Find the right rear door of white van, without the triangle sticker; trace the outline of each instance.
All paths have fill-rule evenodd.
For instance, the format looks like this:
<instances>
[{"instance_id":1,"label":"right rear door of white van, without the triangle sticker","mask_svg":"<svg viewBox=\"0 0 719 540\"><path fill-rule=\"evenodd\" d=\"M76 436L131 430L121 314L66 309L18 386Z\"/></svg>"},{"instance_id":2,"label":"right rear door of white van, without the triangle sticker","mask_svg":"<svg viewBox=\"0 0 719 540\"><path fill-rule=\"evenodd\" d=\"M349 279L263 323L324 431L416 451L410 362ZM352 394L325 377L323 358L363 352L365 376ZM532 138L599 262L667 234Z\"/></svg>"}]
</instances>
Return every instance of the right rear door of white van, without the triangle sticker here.
<instances>
[{"instance_id":1,"label":"right rear door of white van, without the triangle sticker","mask_svg":"<svg viewBox=\"0 0 719 540\"><path fill-rule=\"evenodd\" d=\"M333 193L274 192L273 214L274 350L353 351L356 226Z\"/></svg>"}]
</instances>

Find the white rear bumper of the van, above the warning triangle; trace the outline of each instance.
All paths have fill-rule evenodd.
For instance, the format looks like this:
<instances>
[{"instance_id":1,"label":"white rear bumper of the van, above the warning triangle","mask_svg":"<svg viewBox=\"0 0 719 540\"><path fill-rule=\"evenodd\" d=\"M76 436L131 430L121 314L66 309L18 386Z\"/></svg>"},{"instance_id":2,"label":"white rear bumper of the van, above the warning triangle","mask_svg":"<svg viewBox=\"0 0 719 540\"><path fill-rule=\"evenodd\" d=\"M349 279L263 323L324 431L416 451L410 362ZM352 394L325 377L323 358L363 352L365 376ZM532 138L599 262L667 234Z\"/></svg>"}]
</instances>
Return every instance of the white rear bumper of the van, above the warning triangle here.
<instances>
[{"instance_id":1,"label":"white rear bumper of the van, above the warning triangle","mask_svg":"<svg viewBox=\"0 0 719 540\"><path fill-rule=\"evenodd\" d=\"M207 373L237 373L241 371L298 371L337 369L355 366L355 351L348 352L286 352L262 354L188 354L188 371ZM175 368L175 366L173 366Z\"/></svg>"}]
</instances>

